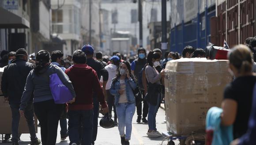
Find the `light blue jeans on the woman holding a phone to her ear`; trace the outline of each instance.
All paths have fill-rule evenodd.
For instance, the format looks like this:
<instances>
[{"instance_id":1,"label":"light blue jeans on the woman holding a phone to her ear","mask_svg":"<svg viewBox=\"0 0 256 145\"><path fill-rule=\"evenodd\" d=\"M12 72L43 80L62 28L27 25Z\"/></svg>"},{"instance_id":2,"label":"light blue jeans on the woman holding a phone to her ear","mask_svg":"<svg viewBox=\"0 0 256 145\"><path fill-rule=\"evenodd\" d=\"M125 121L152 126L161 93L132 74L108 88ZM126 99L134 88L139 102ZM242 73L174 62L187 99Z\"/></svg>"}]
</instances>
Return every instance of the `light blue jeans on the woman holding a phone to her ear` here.
<instances>
[{"instance_id":1,"label":"light blue jeans on the woman holding a phone to her ear","mask_svg":"<svg viewBox=\"0 0 256 145\"><path fill-rule=\"evenodd\" d=\"M124 127L125 139L130 140L132 134L132 117L135 112L135 103L119 103L116 106L117 118L118 118L118 130L120 136L124 136Z\"/></svg>"}]
</instances>

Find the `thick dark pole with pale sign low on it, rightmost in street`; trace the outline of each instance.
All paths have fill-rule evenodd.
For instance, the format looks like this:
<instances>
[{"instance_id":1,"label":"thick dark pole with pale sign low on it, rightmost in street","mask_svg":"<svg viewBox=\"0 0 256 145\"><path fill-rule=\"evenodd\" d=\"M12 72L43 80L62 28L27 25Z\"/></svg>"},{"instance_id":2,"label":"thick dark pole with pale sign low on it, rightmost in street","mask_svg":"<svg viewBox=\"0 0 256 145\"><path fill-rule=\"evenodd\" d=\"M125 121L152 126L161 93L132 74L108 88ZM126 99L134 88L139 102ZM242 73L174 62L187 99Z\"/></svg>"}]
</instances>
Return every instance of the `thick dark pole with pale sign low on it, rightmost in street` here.
<instances>
[{"instance_id":1,"label":"thick dark pole with pale sign low on it, rightmost in street","mask_svg":"<svg viewBox=\"0 0 256 145\"><path fill-rule=\"evenodd\" d=\"M162 43L161 49L167 49L166 0L162 0ZM164 54L164 52L163 52Z\"/></svg>"}]
</instances>

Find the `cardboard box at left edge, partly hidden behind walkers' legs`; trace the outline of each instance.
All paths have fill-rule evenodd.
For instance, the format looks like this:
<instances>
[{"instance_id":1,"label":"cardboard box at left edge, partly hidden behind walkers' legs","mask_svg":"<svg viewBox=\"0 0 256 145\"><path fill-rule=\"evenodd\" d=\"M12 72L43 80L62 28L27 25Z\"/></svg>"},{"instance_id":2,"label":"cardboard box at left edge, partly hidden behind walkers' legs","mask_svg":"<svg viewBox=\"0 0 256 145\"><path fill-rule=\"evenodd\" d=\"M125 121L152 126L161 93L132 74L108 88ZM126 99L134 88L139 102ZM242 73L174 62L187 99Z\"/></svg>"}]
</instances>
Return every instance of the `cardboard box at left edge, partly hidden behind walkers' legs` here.
<instances>
[{"instance_id":1,"label":"cardboard box at left edge, partly hidden behind walkers' legs","mask_svg":"<svg viewBox=\"0 0 256 145\"><path fill-rule=\"evenodd\" d=\"M38 120L34 116L36 132L38 132ZM0 97L0 134L11 134L11 108L4 97ZM20 117L19 134L29 134L25 116Z\"/></svg>"}]
</instances>

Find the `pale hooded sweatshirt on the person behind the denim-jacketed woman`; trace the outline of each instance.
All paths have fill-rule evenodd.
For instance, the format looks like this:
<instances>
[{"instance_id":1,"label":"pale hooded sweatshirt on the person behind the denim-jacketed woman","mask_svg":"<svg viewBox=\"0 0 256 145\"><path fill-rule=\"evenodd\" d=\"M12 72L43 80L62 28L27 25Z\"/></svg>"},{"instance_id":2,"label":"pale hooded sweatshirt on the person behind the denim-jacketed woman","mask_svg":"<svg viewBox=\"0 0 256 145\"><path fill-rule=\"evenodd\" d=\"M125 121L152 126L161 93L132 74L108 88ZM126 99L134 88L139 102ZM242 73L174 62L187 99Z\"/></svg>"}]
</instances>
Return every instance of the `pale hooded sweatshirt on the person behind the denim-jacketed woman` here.
<instances>
[{"instance_id":1,"label":"pale hooded sweatshirt on the person behind the denim-jacketed woman","mask_svg":"<svg viewBox=\"0 0 256 145\"><path fill-rule=\"evenodd\" d=\"M113 78L117 76L117 65L109 64L105 66L105 69L109 72L109 80L106 84L106 90L109 90ZM101 82L103 82L103 77L101 77Z\"/></svg>"}]
</instances>

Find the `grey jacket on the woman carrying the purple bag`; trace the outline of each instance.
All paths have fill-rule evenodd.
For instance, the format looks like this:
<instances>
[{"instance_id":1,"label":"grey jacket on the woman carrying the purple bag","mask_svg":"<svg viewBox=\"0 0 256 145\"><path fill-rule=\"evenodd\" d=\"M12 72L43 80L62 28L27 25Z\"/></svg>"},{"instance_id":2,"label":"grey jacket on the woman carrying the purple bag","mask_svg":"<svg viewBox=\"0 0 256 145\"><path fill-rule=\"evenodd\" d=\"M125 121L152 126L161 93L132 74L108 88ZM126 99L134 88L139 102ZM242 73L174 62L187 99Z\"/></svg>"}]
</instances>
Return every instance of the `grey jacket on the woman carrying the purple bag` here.
<instances>
[{"instance_id":1,"label":"grey jacket on the woman carrying the purple bag","mask_svg":"<svg viewBox=\"0 0 256 145\"><path fill-rule=\"evenodd\" d=\"M34 92L34 103L47 101L53 99L51 90L50 90L50 75L56 73L62 83L68 87L73 97L75 97L75 91L72 86L72 82L69 80L68 76L63 72L60 67L57 65L50 64L46 68L40 71L41 74L36 75L34 69L32 69L27 76L26 86L21 98L20 110L26 108L26 104L29 101L32 93Z\"/></svg>"}]
</instances>

